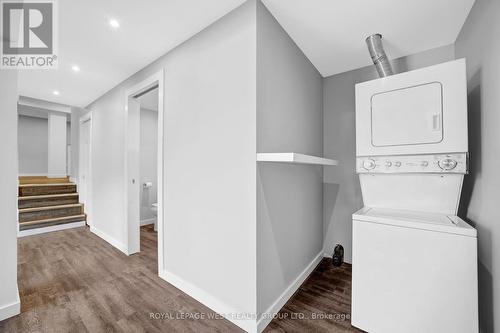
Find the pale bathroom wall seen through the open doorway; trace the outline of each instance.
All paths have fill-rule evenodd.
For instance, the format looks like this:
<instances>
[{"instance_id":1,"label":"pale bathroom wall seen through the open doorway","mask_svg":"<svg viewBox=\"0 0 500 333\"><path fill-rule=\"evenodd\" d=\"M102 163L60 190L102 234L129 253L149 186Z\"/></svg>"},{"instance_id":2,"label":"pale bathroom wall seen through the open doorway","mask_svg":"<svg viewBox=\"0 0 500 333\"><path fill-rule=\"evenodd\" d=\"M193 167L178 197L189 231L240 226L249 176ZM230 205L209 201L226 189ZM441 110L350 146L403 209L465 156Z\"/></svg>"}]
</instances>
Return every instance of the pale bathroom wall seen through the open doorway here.
<instances>
[{"instance_id":1,"label":"pale bathroom wall seen through the open doorway","mask_svg":"<svg viewBox=\"0 0 500 333\"><path fill-rule=\"evenodd\" d=\"M151 205L157 202L158 191L158 111L141 109L140 128L140 203L141 224L152 223L155 214ZM144 188L145 182L153 187Z\"/></svg>"}]
</instances>

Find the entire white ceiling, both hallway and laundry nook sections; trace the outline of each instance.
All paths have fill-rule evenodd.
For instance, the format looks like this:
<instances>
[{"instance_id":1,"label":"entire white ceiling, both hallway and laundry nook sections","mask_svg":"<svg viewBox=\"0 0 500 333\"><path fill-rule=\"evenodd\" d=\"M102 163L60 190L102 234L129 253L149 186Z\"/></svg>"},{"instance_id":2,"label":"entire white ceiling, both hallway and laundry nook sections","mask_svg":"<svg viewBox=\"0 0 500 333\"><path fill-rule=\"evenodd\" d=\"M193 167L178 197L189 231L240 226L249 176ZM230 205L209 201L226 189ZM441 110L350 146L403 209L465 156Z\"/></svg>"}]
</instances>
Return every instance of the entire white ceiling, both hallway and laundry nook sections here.
<instances>
[{"instance_id":1,"label":"entire white ceiling, both hallway and laundry nook sections","mask_svg":"<svg viewBox=\"0 0 500 333\"><path fill-rule=\"evenodd\" d=\"M64 0L59 68L20 71L20 94L85 107L245 0ZM364 39L390 58L453 43L474 0L263 0L323 76L371 63ZM109 26L116 19L120 27ZM77 65L79 72L71 67ZM53 92L59 91L56 96Z\"/></svg>"}]
</instances>

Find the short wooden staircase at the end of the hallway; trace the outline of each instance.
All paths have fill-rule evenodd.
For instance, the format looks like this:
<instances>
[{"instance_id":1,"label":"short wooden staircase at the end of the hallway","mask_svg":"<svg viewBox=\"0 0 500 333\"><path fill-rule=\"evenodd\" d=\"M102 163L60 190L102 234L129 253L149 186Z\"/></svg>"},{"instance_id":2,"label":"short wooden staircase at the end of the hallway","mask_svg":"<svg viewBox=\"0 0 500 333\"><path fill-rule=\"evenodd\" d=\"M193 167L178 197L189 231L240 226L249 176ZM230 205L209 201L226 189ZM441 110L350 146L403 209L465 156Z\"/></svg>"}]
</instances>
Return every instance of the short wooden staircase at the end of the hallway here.
<instances>
[{"instance_id":1,"label":"short wooden staircase at the end of the hallway","mask_svg":"<svg viewBox=\"0 0 500 333\"><path fill-rule=\"evenodd\" d=\"M18 209L21 232L87 219L69 177L19 177Z\"/></svg>"}]
</instances>

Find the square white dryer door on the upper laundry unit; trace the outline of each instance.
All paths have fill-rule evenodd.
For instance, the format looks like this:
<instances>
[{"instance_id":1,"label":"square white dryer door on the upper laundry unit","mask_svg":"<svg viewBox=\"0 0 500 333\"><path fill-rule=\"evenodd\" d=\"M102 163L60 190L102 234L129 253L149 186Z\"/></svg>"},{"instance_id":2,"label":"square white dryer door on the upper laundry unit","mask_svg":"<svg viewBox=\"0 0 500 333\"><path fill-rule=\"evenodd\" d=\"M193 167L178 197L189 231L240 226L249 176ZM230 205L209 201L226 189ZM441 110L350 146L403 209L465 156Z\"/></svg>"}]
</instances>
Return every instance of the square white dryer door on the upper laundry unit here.
<instances>
[{"instance_id":1,"label":"square white dryer door on the upper laundry unit","mask_svg":"<svg viewBox=\"0 0 500 333\"><path fill-rule=\"evenodd\" d=\"M443 95L439 82L375 94L371 111L375 147L443 140Z\"/></svg>"}]
</instances>

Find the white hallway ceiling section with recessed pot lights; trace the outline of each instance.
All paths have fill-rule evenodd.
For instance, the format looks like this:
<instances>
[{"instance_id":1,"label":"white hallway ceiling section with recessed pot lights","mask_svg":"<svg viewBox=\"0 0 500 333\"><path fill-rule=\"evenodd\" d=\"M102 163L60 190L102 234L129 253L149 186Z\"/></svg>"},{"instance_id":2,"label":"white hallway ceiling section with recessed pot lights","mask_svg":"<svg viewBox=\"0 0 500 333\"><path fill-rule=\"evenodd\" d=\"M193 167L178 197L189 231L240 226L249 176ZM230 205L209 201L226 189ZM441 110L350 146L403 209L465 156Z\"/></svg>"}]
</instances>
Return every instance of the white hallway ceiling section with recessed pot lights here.
<instances>
[{"instance_id":1,"label":"white hallway ceiling section with recessed pot lights","mask_svg":"<svg viewBox=\"0 0 500 333\"><path fill-rule=\"evenodd\" d=\"M85 107L243 2L58 1L59 68L19 71L19 93ZM112 18L118 29L108 24Z\"/></svg>"}]
</instances>

